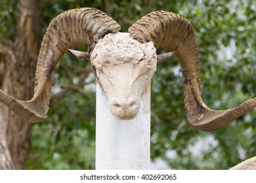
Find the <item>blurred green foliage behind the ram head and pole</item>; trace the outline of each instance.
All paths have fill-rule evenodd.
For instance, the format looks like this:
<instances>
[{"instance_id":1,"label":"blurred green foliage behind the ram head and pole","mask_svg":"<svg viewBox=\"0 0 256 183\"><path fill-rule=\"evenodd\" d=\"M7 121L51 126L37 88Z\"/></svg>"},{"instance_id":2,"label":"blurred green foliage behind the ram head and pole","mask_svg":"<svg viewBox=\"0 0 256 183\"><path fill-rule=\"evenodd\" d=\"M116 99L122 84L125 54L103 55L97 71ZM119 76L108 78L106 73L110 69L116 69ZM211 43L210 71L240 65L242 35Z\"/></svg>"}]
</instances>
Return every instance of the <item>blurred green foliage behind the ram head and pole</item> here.
<instances>
[{"instance_id":1,"label":"blurred green foliage behind the ram head and pole","mask_svg":"<svg viewBox=\"0 0 256 183\"><path fill-rule=\"evenodd\" d=\"M256 96L256 1L44 0L38 8L39 42L55 16L79 7L106 12L123 32L152 10L181 14L198 41L205 104L221 110ZM16 43L19 8L20 1L0 1L1 45ZM256 156L256 110L211 133L188 124L175 57L158 65L151 91L152 169L229 169ZM55 69L49 117L31 126L25 169L95 169L95 102L89 61L66 53Z\"/></svg>"}]
</instances>

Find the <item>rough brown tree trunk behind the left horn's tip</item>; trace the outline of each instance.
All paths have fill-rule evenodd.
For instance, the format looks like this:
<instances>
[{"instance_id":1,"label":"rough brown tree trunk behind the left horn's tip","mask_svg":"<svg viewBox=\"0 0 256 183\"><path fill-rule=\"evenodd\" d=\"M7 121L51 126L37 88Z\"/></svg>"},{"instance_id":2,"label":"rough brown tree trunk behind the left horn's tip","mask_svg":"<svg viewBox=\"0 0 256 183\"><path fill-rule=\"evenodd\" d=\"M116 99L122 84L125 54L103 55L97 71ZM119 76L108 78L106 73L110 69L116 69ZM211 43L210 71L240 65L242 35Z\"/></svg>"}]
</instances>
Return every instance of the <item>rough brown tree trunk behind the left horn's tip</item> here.
<instances>
[{"instance_id":1,"label":"rough brown tree trunk behind the left horn's tip","mask_svg":"<svg viewBox=\"0 0 256 183\"><path fill-rule=\"evenodd\" d=\"M40 10L40 1L20 0L14 45L0 46L1 88L20 100L33 96ZM0 107L0 169L24 169L31 144L30 124L22 122L9 108Z\"/></svg>"}]
</instances>

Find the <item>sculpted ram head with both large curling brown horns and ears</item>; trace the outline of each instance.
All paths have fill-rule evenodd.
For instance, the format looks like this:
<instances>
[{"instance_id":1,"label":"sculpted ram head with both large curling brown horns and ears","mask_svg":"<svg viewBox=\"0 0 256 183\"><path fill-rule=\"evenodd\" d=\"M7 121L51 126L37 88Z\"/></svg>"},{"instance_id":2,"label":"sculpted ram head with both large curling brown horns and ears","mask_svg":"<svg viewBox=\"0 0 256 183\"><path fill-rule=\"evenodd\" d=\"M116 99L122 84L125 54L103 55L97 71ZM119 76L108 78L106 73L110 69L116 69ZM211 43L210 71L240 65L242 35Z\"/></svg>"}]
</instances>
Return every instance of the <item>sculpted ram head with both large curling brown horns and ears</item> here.
<instances>
[{"instance_id":1,"label":"sculpted ram head with both large curling brown horns and ears","mask_svg":"<svg viewBox=\"0 0 256 183\"><path fill-rule=\"evenodd\" d=\"M53 19L41 44L35 90L30 101L19 101L0 90L0 101L28 123L47 118L53 70L64 53L88 44L88 54L70 50L91 59L96 82L102 86L114 116L134 118L146 84L156 71L156 63L175 52L182 68L184 104L190 125L213 131L256 107L256 98L228 110L211 110L201 98L198 44L192 25L178 14L154 11L118 33L120 26L95 8L68 10ZM171 53L156 56L156 48Z\"/></svg>"}]
</instances>

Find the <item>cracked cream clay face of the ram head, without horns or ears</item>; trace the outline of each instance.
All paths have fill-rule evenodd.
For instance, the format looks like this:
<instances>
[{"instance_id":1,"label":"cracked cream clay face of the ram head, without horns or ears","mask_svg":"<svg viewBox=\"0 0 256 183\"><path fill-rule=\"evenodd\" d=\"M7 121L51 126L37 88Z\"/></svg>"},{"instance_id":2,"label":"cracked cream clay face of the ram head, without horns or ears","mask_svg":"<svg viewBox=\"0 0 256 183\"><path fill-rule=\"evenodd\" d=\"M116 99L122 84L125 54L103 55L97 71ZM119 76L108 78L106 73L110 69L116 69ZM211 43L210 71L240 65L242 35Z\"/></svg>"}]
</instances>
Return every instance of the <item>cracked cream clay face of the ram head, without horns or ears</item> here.
<instances>
[{"instance_id":1,"label":"cracked cream clay face of the ram head, without horns or ears","mask_svg":"<svg viewBox=\"0 0 256 183\"><path fill-rule=\"evenodd\" d=\"M98 41L90 59L112 114L120 120L135 118L156 71L153 42L140 43L130 33L110 33Z\"/></svg>"}]
</instances>

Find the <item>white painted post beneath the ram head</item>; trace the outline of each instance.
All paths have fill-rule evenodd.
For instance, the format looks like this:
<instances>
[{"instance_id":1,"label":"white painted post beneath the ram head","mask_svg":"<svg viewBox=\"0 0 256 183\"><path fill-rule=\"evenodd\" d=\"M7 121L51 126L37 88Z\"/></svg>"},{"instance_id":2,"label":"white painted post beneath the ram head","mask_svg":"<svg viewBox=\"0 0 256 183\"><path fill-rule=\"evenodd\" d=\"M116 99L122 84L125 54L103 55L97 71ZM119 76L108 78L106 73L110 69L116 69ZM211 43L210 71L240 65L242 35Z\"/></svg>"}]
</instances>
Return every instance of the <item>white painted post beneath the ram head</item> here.
<instances>
[{"instance_id":1,"label":"white painted post beneath the ram head","mask_svg":"<svg viewBox=\"0 0 256 183\"><path fill-rule=\"evenodd\" d=\"M150 169L150 84L133 120L117 120L96 84L96 169Z\"/></svg>"}]
</instances>

